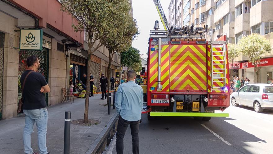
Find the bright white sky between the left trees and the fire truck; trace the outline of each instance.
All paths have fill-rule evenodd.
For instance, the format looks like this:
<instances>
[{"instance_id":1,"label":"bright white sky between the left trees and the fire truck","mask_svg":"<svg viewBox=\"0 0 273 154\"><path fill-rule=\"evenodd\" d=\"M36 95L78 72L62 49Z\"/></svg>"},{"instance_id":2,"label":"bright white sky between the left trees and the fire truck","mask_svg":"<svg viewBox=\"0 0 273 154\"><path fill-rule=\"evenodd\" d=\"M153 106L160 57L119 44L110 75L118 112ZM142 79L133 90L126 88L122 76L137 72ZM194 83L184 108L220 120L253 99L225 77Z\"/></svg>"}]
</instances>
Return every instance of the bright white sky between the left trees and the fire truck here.
<instances>
[{"instance_id":1,"label":"bright white sky between the left trees and the fire truck","mask_svg":"<svg viewBox=\"0 0 273 154\"><path fill-rule=\"evenodd\" d=\"M168 18L168 7L171 0L160 0L164 13ZM139 49L141 58L147 58L150 30L154 29L154 21L159 21L159 30L164 30L153 0L132 0L133 17L137 20L140 34L133 40L132 46Z\"/></svg>"}]
</instances>

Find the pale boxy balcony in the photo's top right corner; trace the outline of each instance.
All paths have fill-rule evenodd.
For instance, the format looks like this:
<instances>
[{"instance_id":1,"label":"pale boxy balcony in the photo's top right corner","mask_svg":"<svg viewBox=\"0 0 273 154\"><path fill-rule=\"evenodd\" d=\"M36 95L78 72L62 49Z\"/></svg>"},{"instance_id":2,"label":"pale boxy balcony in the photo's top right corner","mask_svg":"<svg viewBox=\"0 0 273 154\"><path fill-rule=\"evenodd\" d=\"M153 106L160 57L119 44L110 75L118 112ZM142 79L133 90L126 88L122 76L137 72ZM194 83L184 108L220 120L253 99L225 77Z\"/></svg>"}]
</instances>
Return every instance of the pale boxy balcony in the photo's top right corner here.
<instances>
[{"instance_id":1,"label":"pale boxy balcony in the photo's top right corner","mask_svg":"<svg viewBox=\"0 0 273 154\"><path fill-rule=\"evenodd\" d=\"M250 9L250 26L273 21L273 1L261 1Z\"/></svg>"}]
</instances>

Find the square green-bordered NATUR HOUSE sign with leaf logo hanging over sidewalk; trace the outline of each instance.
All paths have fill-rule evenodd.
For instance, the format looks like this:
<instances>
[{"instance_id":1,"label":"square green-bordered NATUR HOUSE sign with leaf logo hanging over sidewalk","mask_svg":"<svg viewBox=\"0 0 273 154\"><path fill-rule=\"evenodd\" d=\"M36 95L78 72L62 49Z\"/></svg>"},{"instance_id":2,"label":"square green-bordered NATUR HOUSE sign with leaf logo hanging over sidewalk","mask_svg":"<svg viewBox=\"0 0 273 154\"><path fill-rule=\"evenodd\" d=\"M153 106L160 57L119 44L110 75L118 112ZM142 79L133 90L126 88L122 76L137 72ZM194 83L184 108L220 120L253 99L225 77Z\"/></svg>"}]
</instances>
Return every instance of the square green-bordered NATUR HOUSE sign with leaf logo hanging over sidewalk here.
<instances>
[{"instance_id":1,"label":"square green-bordered NATUR HOUSE sign with leaf logo hanging over sidewalk","mask_svg":"<svg viewBox=\"0 0 273 154\"><path fill-rule=\"evenodd\" d=\"M43 30L20 30L20 50L42 50Z\"/></svg>"}]
</instances>

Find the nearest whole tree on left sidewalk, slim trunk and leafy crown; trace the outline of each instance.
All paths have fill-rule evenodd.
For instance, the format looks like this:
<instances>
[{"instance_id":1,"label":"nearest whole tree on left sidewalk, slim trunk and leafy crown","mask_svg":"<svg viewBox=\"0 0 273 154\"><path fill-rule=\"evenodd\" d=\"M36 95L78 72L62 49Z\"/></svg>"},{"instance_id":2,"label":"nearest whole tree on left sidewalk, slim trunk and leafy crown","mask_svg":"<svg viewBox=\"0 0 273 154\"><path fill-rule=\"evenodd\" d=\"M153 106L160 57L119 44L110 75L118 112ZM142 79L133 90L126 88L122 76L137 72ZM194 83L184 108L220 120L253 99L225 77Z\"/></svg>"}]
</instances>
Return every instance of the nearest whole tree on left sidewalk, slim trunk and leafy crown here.
<instances>
[{"instance_id":1,"label":"nearest whole tree on left sidewalk, slim trunk and leafy crown","mask_svg":"<svg viewBox=\"0 0 273 154\"><path fill-rule=\"evenodd\" d=\"M74 31L85 32L88 44L87 79L90 77L90 65L92 54L99 49L102 44L98 40L105 38L109 34L114 23L110 22L111 10L118 0L61 0L61 10L71 14L78 20L78 24L73 23ZM88 107L90 82L86 82L86 99L84 110L84 122L88 123Z\"/></svg>"}]
</instances>

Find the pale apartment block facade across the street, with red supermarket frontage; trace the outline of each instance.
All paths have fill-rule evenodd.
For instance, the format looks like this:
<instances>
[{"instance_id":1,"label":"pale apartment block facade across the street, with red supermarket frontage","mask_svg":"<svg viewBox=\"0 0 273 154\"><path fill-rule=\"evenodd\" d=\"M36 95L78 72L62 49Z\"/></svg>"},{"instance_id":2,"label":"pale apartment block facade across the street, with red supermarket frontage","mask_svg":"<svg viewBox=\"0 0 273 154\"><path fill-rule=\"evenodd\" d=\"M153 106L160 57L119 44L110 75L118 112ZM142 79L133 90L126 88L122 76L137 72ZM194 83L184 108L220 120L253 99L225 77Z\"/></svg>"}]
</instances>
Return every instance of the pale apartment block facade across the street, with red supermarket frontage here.
<instances>
[{"instance_id":1,"label":"pale apartment block facade across the street, with red supermarket frontage","mask_svg":"<svg viewBox=\"0 0 273 154\"><path fill-rule=\"evenodd\" d=\"M172 6L172 2L170 3ZM169 20L172 21L174 7L169 6ZM270 40L273 46L273 0L183 0L182 26L203 27L208 25L212 38L225 38L228 43L237 44L243 36L259 33ZM273 66L270 58L273 54L262 55L259 83L268 83L272 79ZM257 83L257 76L248 57L242 54L230 64L230 79L234 76L248 77L250 83ZM232 68L232 69L231 69Z\"/></svg>"}]
</instances>

